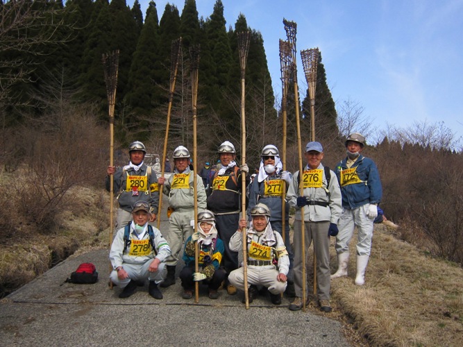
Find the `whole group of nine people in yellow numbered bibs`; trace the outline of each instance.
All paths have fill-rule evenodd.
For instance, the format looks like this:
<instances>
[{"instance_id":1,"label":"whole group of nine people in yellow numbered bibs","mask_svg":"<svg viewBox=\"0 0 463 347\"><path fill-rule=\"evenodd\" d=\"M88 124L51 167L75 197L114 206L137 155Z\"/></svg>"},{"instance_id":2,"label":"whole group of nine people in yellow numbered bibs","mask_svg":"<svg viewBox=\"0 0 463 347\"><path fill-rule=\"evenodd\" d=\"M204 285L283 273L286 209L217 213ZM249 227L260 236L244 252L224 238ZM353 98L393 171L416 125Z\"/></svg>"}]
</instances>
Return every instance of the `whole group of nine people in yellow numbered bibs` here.
<instances>
[{"instance_id":1,"label":"whole group of nine people in yellow numbered bibs","mask_svg":"<svg viewBox=\"0 0 463 347\"><path fill-rule=\"evenodd\" d=\"M349 135L345 142L346 158L333 171L321 163L323 146L309 142L305 146L307 164L302 174L296 171L292 175L283 171L278 149L269 144L262 149L258 174L249 185L249 167L237 164L235 146L226 141L217 150L220 165L207 195L204 172L203 177L196 174L194 187L195 173L189 167L187 148L178 146L174 150L174 173L166 179L156 177L155 172L146 168L143 164L146 149L141 142L134 142L129 146L131 162L117 171L108 167L106 179L109 187L113 175L119 201L119 230L110 251L113 266L110 278L122 288L119 296L130 296L140 281L148 279L149 294L162 298L158 285L169 287L176 282L176 266L182 257L185 266L179 277L185 299L192 298L194 282L208 285L211 299L219 297L220 287L234 295L237 289L244 291L247 282L249 303L258 294L269 291L271 303L280 305L281 294L286 292L293 298L289 310L301 310L303 282L307 281L302 271L304 232L305 251L313 241L317 258L317 303L323 312L331 312L330 280L348 274L348 246L355 226L358 229L355 285L364 285L373 220L378 216L382 196L378 169L373 160L362 155L364 145L362 135ZM242 176L246 187L249 185L247 221L240 217ZM196 226L195 189L199 212ZM156 219L160 192L169 198L169 228L165 231L150 225ZM290 207L296 210L293 247L289 240ZM246 230L247 281L238 260L238 252L243 248L243 230ZM336 237L338 262L333 275L330 275L330 237Z\"/></svg>"}]
</instances>

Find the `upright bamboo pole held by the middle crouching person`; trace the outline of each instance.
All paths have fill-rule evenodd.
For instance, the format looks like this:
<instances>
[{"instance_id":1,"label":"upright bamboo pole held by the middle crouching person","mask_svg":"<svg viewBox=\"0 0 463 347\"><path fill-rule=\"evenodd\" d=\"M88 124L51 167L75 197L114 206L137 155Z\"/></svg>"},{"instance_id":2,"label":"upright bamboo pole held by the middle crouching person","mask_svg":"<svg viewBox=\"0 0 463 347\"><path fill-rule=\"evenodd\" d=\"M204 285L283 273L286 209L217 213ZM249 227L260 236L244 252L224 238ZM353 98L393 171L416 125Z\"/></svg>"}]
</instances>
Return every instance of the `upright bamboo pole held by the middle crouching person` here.
<instances>
[{"instance_id":1,"label":"upright bamboo pole held by the middle crouching person","mask_svg":"<svg viewBox=\"0 0 463 347\"><path fill-rule=\"evenodd\" d=\"M198 70L199 70L199 45L190 47L190 65L191 65L191 80L192 80L192 113L193 113L193 185L194 185L194 232L198 232L198 189L196 175L197 160L197 109L196 101L198 99ZM194 243L194 272L199 272L199 245ZM194 303L199 303L199 283L194 282Z\"/></svg>"}]
</instances>

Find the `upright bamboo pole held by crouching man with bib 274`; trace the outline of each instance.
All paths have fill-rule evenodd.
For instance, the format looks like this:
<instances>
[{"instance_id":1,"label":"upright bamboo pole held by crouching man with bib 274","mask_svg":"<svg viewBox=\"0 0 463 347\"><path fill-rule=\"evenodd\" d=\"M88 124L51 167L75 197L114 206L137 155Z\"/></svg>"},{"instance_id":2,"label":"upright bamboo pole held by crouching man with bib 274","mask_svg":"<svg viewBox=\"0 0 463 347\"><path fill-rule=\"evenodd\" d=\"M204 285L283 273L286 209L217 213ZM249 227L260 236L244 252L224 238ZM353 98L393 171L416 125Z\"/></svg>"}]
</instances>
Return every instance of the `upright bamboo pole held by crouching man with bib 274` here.
<instances>
[{"instance_id":1,"label":"upright bamboo pole held by crouching man with bib 274","mask_svg":"<svg viewBox=\"0 0 463 347\"><path fill-rule=\"evenodd\" d=\"M242 164L246 163L246 60L249 52L249 40L251 33L243 31L238 33L238 51L239 51L239 65L241 67L241 152ZM246 174L241 173L242 182L242 219L246 219ZM243 276L244 276L244 298L246 299L245 307L249 310L249 291L248 291L248 243L246 239L246 228L242 228L243 237Z\"/></svg>"}]
</instances>

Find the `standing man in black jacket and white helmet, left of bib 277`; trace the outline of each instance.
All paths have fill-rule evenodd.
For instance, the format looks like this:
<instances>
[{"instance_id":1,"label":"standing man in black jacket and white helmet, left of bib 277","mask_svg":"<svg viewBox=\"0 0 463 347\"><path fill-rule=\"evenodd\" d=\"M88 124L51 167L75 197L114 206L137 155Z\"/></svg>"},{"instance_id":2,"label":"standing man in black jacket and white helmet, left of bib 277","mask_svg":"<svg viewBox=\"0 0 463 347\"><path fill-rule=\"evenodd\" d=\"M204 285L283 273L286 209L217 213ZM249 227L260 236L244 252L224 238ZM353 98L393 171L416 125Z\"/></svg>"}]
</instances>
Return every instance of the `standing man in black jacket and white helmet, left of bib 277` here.
<instances>
[{"instance_id":1,"label":"standing man in black jacket and white helmet, left of bib 277","mask_svg":"<svg viewBox=\"0 0 463 347\"><path fill-rule=\"evenodd\" d=\"M227 273L238 268L238 252L228 247L230 237L235 233L239 223L242 198L242 174L246 176L246 186L249 185L249 167L246 164L238 167L235 162L235 146L229 141L223 142L217 150L220 158L220 169L212 180L212 193L208 196L208 210L215 214L219 237L224 242L224 267ZM236 294L236 288L227 285L230 295Z\"/></svg>"}]
</instances>

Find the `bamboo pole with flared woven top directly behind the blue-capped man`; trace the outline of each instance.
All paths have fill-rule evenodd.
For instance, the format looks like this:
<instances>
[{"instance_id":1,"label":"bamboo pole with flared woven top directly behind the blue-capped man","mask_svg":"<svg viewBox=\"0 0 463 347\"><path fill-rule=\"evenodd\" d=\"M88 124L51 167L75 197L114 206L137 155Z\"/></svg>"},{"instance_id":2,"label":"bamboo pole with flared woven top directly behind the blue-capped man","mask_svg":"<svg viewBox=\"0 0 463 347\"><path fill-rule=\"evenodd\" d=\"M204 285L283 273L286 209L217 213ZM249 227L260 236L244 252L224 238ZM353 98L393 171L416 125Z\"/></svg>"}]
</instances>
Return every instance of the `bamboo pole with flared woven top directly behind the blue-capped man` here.
<instances>
[{"instance_id":1,"label":"bamboo pole with flared woven top directly behind the blue-capped man","mask_svg":"<svg viewBox=\"0 0 463 347\"><path fill-rule=\"evenodd\" d=\"M306 49L301 51L302 65L305 79L309 85L310 99L310 130L311 141L315 141L315 87L317 87L317 66L319 60L319 49ZM314 244L314 296L317 296L317 255Z\"/></svg>"}]
</instances>

